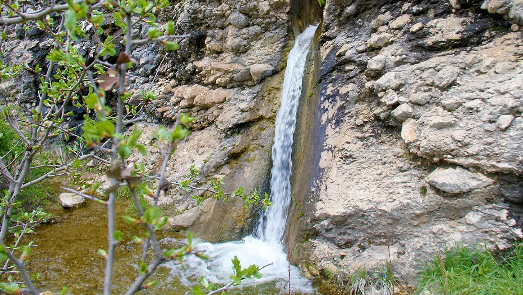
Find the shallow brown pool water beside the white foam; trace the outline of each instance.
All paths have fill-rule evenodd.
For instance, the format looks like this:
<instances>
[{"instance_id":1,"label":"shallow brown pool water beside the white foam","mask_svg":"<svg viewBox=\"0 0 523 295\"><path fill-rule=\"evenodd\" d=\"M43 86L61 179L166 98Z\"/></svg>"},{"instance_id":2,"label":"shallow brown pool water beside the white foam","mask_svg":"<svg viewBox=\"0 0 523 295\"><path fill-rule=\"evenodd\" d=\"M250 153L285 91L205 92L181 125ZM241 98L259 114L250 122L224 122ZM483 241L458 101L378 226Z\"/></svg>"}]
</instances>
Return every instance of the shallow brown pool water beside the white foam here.
<instances>
[{"instance_id":1,"label":"shallow brown pool water beside the white foam","mask_svg":"<svg viewBox=\"0 0 523 295\"><path fill-rule=\"evenodd\" d=\"M107 213L106 208L97 203L86 201L77 209L51 208L48 212L55 215L55 221L36 229L37 234L25 237L24 244L34 241L37 247L31 252L27 268L30 273L40 273L35 285L39 291L51 291L56 294L63 286L70 288L71 294L101 294L104 280L105 260L96 252L107 248ZM131 215L128 203L116 203L116 229L125 237L116 250L115 270L113 275L113 293L122 294L138 274L137 263L141 247L132 242L133 235L144 237L139 226L125 223L121 215ZM176 239L183 238L172 231L158 232L166 248L179 247ZM165 239L165 238L174 239ZM157 279L160 284L140 294L182 295L190 294L190 288L171 274L171 269L158 267L150 280ZM233 290L233 294L278 294L279 288L274 283L243 287Z\"/></svg>"}]
</instances>

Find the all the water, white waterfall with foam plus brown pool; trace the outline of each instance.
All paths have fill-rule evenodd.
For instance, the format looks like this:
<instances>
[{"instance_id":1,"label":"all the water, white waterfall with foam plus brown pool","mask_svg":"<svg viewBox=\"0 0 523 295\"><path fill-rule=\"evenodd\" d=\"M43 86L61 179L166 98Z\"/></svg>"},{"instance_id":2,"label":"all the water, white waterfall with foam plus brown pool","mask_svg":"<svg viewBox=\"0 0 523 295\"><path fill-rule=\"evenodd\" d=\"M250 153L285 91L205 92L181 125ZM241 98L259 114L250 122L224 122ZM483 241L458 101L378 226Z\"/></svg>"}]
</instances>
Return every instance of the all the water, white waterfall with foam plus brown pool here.
<instances>
[{"instance_id":1,"label":"all the water, white waterfall with foam plus brown pool","mask_svg":"<svg viewBox=\"0 0 523 295\"><path fill-rule=\"evenodd\" d=\"M256 236L247 236L242 241L221 244L200 243L199 249L205 250L210 258L201 260L188 256L185 265L188 269L181 270L174 264L160 267L153 275L160 285L151 290L142 291L151 295L183 295L200 277L207 277L219 285L229 282L232 274L231 259L237 256L242 267L252 264L264 266L263 278L242 282L240 289L232 290L233 294L275 294L289 291L289 278L292 293L314 293L311 281L301 276L300 270L289 264L285 252L284 237L287 223L288 208L291 200L290 175L292 169L291 153L293 135L296 123L298 101L301 96L306 56L310 52L311 40L316 27L309 26L294 42L289 53L287 69L283 81L281 106L276 116L276 132L272 146L272 176L271 202L260 217ZM117 203L118 214L124 214L126 208ZM105 208L87 203L75 210L56 209L52 211L60 216L60 222L51 226L38 228L38 235L27 236L27 241L45 246L37 247L31 253L28 268L30 272L39 272L41 277L36 285L43 290L58 291L62 286L71 287L72 294L93 294L101 286L104 261L93 257L97 248L104 248L107 236L103 227L93 227L92 224L105 224ZM117 229L126 236L138 234L133 232L126 223L117 222ZM65 234L67 233L67 234ZM172 234L172 233L170 233ZM176 237L160 236L161 243L177 247L180 240ZM77 243L77 241L89 241ZM116 253L115 292L121 292L129 286L137 274L135 257L141 251L140 246L132 241L125 241ZM290 271L290 272L289 272ZM81 277L81 279L78 279Z\"/></svg>"}]
</instances>

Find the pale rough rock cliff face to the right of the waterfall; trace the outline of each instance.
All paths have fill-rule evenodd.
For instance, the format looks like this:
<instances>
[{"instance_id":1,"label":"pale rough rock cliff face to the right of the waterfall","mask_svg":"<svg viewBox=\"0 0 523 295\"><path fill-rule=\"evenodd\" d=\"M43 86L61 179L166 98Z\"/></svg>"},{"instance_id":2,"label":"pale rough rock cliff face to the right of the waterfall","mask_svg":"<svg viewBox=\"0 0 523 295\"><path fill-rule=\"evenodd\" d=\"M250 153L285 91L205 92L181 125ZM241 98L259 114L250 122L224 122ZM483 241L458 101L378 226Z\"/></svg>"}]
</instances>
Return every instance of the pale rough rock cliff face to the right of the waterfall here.
<instances>
[{"instance_id":1,"label":"pale rough rock cliff face to the right of the waterfall","mask_svg":"<svg viewBox=\"0 0 523 295\"><path fill-rule=\"evenodd\" d=\"M412 281L445 247L522 237L522 8L326 2L310 87L317 137L298 147L320 156L304 164L317 173L293 177L291 261L310 262L305 248L319 269L352 271L390 251Z\"/></svg>"}]
</instances>

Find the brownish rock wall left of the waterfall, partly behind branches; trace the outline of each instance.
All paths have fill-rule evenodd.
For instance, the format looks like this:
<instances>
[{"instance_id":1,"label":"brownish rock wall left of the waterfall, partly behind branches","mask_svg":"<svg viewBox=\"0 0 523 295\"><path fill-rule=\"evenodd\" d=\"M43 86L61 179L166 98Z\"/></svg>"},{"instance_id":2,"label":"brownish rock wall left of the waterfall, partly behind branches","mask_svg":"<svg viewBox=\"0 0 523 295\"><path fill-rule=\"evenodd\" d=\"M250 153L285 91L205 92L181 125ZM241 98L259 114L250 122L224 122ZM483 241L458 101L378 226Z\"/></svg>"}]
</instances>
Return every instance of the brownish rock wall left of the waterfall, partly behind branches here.
<instances>
[{"instance_id":1,"label":"brownish rock wall left of the waterfall, partly behind branches","mask_svg":"<svg viewBox=\"0 0 523 295\"><path fill-rule=\"evenodd\" d=\"M255 189L264 192L274 118L292 39L290 9L289 0L173 1L157 15L157 22L174 20L177 33L192 36L181 40L174 52L167 52L157 43L133 48L132 57L137 64L130 69L132 96L127 103L137 106L140 116L146 118L137 125L145 131L142 143L153 146L153 132L158 125L169 128L179 114L197 118L192 123L192 133L178 143L169 162L170 180L183 179L190 165L195 165L201 171L198 180L202 183L225 177L224 190L244 186L248 193ZM110 21L102 27L103 38L120 30ZM147 28L138 22L134 38L146 38ZM52 47L52 39L38 30L25 31L21 25L7 33L16 41L3 42L3 52L7 53L3 61L46 64L43 59ZM82 40L75 46L89 58L93 42ZM117 52L122 47L120 43L115 45ZM110 58L108 61L114 62ZM22 109L30 110L35 106L31 97L35 97L37 88L38 79L27 72L13 84L0 85L0 95L2 99L18 100ZM144 90L153 92L156 99L142 99ZM115 97L116 94L108 95L112 108ZM78 124L84 113L81 109L75 111L78 120L71 123ZM144 161L147 172L157 174L162 156L153 148L146 158L134 153L130 161ZM160 204L174 217L177 212L196 206L191 199L194 194L171 188L162 195ZM225 205L207 200L201 210L190 213L189 219L194 221L191 230L212 242L239 239L250 232L257 220L255 212L246 210L239 199Z\"/></svg>"}]
</instances>

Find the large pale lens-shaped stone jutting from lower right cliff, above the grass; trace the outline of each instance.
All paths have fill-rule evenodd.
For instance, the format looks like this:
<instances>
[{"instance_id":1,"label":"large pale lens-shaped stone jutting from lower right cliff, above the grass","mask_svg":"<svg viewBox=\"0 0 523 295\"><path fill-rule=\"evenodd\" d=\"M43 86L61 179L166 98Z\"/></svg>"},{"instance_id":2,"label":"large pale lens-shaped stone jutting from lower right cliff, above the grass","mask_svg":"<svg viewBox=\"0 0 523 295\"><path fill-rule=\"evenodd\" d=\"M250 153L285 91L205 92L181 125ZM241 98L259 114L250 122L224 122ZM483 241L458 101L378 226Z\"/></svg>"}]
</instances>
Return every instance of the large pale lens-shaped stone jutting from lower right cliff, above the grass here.
<instances>
[{"instance_id":1,"label":"large pale lens-shaped stone jutting from lower right cliff, above the grass","mask_svg":"<svg viewBox=\"0 0 523 295\"><path fill-rule=\"evenodd\" d=\"M427 182L450 194L462 194L491 185L494 180L458 166L456 169L437 168L427 176Z\"/></svg>"}]
</instances>

